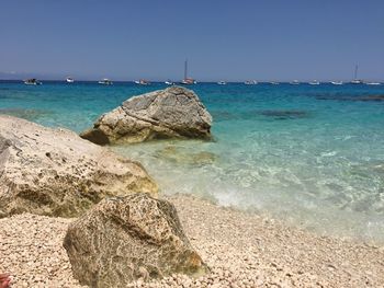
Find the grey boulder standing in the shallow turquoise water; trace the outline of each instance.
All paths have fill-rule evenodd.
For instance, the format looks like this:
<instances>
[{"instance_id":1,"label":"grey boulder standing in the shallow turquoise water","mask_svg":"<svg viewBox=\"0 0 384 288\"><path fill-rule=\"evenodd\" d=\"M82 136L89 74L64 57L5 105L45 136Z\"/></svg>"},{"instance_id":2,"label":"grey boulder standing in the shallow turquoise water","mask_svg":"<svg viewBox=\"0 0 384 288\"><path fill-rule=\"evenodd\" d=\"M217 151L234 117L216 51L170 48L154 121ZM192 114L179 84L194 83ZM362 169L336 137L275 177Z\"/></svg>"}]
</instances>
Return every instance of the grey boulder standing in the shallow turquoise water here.
<instances>
[{"instance_id":1,"label":"grey boulder standing in the shallow turquoise water","mask_svg":"<svg viewBox=\"0 0 384 288\"><path fill-rule=\"evenodd\" d=\"M211 124L211 114L193 91L171 87L125 101L80 136L98 145L161 138L210 139Z\"/></svg>"}]
</instances>

